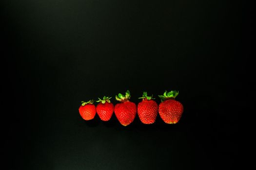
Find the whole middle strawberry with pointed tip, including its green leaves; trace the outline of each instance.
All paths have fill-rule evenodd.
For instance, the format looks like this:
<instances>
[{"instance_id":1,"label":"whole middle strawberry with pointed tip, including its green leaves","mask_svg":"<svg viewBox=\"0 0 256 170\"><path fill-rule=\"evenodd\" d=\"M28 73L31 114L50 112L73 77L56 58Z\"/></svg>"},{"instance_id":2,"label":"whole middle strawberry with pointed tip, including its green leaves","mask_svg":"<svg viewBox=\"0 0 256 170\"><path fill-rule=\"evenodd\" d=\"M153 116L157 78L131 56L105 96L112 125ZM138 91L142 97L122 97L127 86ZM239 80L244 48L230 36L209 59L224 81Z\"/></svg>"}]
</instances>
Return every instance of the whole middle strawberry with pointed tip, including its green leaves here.
<instances>
[{"instance_id":1,"label":"whole middle strawberry with pointed tip, including its green leaves","mask_svg":"<svg viewBox=\"0 0 256 170\"><path fill-rule=\"evenodd\" d=\"M130 98L129 90L126 91L125 96L120 93L116 96L116 100L120 103L115 105L115 115L123 126L133 122L136 116L137 106L134 102L129 101Z\"/></svg>"}]
</instances>

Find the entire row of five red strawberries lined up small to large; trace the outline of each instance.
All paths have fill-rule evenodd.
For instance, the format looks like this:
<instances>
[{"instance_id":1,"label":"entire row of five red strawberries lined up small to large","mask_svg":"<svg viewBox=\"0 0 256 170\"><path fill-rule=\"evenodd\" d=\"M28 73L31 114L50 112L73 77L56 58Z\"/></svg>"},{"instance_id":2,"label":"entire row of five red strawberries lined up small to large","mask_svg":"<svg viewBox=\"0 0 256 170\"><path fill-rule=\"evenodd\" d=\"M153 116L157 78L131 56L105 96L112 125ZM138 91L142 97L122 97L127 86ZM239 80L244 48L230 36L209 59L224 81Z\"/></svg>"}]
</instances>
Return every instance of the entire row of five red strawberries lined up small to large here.
<instances>
[{"instance_id":1,"label":"entire row of five red strawberries lined up small to large","mask_svg":"<svg viewBox=\"0 0 256 170\"><path fill-rule=\"evenodd\" d=\"M133 122L138 112L138 117L140 121L144 124L152 124L156 121L157 115L159 113L160 118L163 119L165 123L175 124L180 119L183 113L183 105L176 101L175 98L178 95L178 91L167 91L163 95L159 95L161 103L158 105L152 96L148 96L147 92L143 92L141 102L138 103L138 107L134 102L130 102L131 98L129 90L126 91L125 95L119 93L116 96L116 100L120 103L114 106L110 102L111 97L104 96L103 99L99 99L97 106L93 104L93 100L89 102L82 102L79 107L80 116L85 120L94 119L96 112L99 118L103 121L108 121L111 119L113 113L118 119L118 121L123 125L127 126Z\"/></svg>"}]
</instances>

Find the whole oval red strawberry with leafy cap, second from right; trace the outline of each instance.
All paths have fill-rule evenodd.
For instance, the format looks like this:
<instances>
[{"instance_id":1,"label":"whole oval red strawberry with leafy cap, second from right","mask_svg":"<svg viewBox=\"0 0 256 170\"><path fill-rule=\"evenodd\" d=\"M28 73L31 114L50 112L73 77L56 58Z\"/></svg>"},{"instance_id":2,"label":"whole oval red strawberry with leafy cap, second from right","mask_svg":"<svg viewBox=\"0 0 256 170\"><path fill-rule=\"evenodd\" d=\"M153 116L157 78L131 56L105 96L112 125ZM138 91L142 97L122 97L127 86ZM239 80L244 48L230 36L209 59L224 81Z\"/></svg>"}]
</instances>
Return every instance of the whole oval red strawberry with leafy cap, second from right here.
<instances>
[{"instance_id":1,"label":"whole oval red strawberry with leafy cap, second from right","mask_svg":"<svg viewBox=\"0 0 256 170\"><path fill-rule=\"evenodd\" d=\"M154 123L158 116L158 103L153 101L153 95L147 96L147 92L143 92L142 102L138 103L138 117L144 124Z\"/></svg>"}]
</instances>

